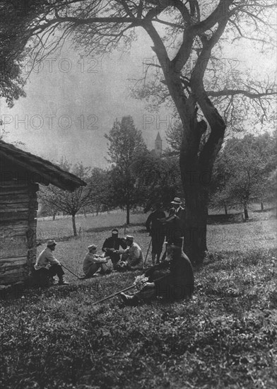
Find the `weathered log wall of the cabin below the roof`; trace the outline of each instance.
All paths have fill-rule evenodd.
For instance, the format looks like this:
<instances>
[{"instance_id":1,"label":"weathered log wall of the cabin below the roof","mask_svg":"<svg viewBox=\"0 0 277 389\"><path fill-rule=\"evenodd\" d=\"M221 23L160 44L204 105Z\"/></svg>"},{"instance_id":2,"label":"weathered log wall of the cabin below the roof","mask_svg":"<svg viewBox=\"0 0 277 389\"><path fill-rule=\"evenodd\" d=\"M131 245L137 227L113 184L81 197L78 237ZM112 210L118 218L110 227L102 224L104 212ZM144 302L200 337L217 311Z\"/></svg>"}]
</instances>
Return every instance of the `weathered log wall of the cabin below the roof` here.
<instances>
[{"instance_id":1,"label":"weathered log wall of the cabin below the roof","mask_svg":"<svg viewBox=\"0 0 277 389\"><path fill-rule=\"evenodd\" d=\"M36 257L38 185L1 177L0 284L27 281Z\"/></svg>"}]
</instances>

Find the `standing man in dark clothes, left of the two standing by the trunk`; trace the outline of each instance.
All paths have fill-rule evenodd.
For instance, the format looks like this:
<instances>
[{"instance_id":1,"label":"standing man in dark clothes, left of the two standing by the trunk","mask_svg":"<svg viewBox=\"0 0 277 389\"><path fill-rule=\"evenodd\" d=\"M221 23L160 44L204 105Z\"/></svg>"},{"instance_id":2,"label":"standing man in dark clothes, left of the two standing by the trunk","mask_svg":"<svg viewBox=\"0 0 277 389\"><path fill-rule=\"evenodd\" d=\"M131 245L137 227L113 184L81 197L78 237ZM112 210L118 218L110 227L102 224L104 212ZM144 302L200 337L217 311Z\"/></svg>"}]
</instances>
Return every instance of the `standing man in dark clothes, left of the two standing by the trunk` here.
<instances>
[{"instance_id":1,"label":"standing man in dark clothes, left of the two standing by the trunk","mask_svg":"<svg viewBox=\"0 0 277 389\"><path fill-rule=\"evenodd\" d=\"M159 219L165 218L165 212L161 209L161 204L155 204L155 211L148 216L146 220L146 231L152 238L152 265L155 265L155 257L157 255L156 263L160 263L160 254L163 250L163 242L165 240L165 231L163 224Z\"/></svg>"}]
</instances>

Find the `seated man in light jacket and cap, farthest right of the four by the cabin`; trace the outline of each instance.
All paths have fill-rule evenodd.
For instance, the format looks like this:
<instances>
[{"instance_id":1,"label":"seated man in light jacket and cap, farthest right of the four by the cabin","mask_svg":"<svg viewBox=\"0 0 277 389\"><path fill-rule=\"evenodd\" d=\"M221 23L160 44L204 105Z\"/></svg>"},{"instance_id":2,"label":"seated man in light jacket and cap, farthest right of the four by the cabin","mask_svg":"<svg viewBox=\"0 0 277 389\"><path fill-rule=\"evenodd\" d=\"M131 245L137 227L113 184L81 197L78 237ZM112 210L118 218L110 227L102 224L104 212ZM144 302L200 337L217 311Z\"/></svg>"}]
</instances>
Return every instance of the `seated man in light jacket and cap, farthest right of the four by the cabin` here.
<instances>
[{"instance_id":1,"label":"seated man in light jacket and cap, farthest right of the four by the cabin","mask_svg":"<svg viewBox=\"0 0 277 389\"><path fill-rule=\"evenodd\" d=\"M119 266L125 267L127 270L143 269L143 252L139 245L134 243L134 236L127 235L125 240L128 248L118 250L119 254L122 254L122 261L119 262Z\"/></svg>"}]
</instances>

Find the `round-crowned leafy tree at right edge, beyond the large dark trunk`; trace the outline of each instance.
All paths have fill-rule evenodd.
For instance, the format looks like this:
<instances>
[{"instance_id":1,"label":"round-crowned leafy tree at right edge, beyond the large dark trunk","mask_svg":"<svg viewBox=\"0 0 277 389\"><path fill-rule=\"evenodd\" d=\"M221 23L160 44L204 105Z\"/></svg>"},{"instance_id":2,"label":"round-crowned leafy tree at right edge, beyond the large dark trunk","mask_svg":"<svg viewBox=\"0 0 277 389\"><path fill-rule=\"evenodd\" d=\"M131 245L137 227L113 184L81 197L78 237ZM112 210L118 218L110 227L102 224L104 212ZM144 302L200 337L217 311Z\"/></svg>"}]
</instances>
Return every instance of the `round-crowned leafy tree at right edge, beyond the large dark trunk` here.
<instances>
[{"instance_id":1,"label":"round-crowned leafy tree at right edge, beyond the large dark trunk","mask_svg":"<svg viewBox=\"0 0 277 389\"><path fill-rule=\"evenodd\" d=\"M265 133L259 137L248 134L242 139L228 139L215 165L213 180L217 187L213 204L242 207L247 220L249 204L272 196L276 138Z\"/></svg>"}]
</instances>

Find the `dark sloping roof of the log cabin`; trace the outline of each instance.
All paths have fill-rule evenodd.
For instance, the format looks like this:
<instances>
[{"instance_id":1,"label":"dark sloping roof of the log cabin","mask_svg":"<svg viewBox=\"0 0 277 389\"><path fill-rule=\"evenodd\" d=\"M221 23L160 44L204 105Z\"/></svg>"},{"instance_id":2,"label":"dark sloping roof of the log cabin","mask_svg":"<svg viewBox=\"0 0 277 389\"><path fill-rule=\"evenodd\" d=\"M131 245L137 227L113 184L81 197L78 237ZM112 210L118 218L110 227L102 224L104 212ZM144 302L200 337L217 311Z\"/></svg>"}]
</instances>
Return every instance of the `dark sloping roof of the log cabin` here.
<instances>
[{"instance_id":1,"label":"dark sloping roof of the log cabin","mask_svg":"<svg viewBox=\"0 0 277 389\"><path fill-rule=\"evenodd\" d=\"M62 190L73 191L78 187L85 186L86 182L76 175L66 172L44 158L18 149L13 144L0 140L0 159L2 166L11 163L23 170L28 171L33 180L42 185L55 185Z\"/></svg>"}]
</instances>

